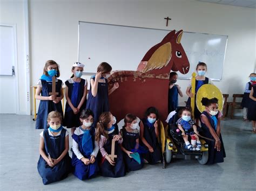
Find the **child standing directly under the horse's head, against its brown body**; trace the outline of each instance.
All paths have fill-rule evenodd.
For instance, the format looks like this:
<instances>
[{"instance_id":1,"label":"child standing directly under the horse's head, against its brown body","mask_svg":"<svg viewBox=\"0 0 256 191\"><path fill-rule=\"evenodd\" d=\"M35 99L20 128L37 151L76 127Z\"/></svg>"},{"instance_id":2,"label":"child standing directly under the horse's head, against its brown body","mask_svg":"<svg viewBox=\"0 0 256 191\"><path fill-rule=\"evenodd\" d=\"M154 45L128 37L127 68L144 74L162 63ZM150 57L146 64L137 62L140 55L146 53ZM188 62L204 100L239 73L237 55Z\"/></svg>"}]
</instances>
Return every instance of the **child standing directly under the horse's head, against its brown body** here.
<instances>
[{"instance_id":1,"label":"child standing directly under the horse's head, against its brown body","mask_svg":"<svg viewBox=\"0 0 256 191\"><path fill-rule=\"evenodd\" d=\"M171 72L169 77L169 93L168 93L168 113L174 111L178 107L178 95L183 97L180 90L180 86L175 84L178 79L178 74L176 72Z\"/></svg>"}]
</instances>

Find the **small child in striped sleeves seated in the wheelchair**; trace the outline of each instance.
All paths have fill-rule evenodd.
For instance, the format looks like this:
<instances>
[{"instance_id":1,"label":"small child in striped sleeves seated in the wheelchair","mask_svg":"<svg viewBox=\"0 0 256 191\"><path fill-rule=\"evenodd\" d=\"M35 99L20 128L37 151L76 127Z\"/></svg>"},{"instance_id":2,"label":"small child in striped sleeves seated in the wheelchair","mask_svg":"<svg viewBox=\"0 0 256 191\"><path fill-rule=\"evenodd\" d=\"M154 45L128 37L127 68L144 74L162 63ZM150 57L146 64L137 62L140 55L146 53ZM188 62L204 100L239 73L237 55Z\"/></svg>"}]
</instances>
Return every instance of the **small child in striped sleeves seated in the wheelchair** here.
<instances>
[{"instance_id":1,"label":"small child in striped sleeves seated in the wheelchair","mask_svg":"<svg viewBox=\"0 0 256 191\"><path fill-rule=\"evenodd\" d=\"M197 126L194 123L194 120L191 118L191 110L188 108L181 109L179 111L180 118L176 122L179 130L181 131L181 135L183 136L185 142L185 149L190 151L200 151L201 150L201 142L199 140L199 133L197 131ZM196 137L196 145L190 144L188 141L188 136Z\"/></svg>"}]
</instances>

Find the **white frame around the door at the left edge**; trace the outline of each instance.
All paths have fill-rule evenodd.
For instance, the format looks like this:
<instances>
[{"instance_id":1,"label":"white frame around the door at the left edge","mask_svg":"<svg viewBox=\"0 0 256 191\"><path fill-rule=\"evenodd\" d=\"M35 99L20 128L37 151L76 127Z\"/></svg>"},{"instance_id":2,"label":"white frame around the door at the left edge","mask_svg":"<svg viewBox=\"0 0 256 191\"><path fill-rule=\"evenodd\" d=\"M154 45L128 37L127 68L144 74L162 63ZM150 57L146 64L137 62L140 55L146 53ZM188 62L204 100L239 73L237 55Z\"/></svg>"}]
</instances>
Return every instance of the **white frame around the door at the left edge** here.
<instances>
[{"instance_id":1,"label":"white frame around the door at the left edge","mask_svg":"<svg viewBox=\"0 0 256 191\"><path fill-rule=\"evenodd\" d=\"M16 24L0 23L0 26L12 27L14 30L14 67L15 67L15 114L19 114L19 83L18 83L18 49L17 49L17 29ZM6 76L8 77L8 76Z\"/></svg>"}]
</instances>

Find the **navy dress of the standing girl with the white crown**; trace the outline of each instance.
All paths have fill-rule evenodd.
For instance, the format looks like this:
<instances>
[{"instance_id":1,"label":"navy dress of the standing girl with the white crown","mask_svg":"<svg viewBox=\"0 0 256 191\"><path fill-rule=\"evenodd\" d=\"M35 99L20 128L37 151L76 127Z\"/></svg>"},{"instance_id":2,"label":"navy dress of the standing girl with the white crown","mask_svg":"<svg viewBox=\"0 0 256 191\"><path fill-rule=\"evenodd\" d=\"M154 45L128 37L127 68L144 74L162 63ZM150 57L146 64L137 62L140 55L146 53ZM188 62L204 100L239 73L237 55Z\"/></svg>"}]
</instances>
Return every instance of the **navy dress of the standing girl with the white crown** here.
<instances>
[{"instance_id":1,"label":"navy dress of the standing girl with the white crown","mask_svg":"<svg viewBox=\"0 0 256 191\"><path fill-rule=\"evenodd\" d=\"M80 82L74 82L74 83L69 83L69 81L67 80L65 81L65 84L69 89L69 92L68 92L69 98L73 106L77 108L84 95L85 80L81 79ZM78 112L78 114L74 114L69 103L66 102L63 126L66 126L66 128L74 128L74 127L80 126L80 120L79 120L80 112L85 107L86 107L86 100L84 101L84 104L80 108L80 111Z\"/></svg>"}]
</instances>

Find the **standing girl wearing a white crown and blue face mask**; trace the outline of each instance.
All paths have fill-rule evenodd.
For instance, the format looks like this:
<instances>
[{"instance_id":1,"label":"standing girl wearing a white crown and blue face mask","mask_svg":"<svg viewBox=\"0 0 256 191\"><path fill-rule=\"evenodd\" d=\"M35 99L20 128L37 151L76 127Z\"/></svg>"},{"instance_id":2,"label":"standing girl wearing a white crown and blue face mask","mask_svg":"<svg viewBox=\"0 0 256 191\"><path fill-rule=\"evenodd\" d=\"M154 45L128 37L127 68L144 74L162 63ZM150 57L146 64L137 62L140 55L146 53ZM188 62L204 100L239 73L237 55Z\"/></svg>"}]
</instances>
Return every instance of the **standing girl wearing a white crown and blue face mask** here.
<instances>
[{"instance_id":1,"label":"standing girl wearing a white crown and blue face mask","mask_svg":"<svg viewBox=\"0 0 256 191\"><path fill-rule=\"evenodd\" d=\"M84 65L75 62L71 69L72 76L65 81L66 84L66 108L63 126L72 128L71 133L80 125L80 111L86 107L87 80L82 79Z\"/></svg>"}]
</instances>

